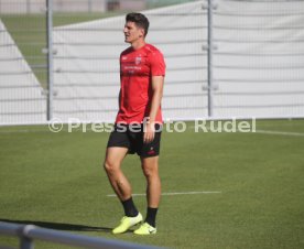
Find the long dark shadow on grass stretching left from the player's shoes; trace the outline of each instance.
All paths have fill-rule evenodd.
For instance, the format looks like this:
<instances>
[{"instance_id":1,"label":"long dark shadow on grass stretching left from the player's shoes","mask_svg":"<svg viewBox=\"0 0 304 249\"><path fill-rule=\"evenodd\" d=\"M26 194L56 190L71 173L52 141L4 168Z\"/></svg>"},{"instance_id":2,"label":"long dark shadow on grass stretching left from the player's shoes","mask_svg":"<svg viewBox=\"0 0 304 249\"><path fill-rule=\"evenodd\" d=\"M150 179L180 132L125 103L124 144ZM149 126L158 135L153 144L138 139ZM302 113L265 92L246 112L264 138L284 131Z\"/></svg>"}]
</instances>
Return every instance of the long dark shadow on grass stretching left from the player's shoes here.
<instances>
[{"instance_id":1,"label":"long dark shadow on grass stretching left from the player's shoes","mask_svg":"<svg viewBox=\"0 0 304 249\"><path fill-rule=\"evenodd\" d=\"M1 219L3 223L14 223L22 225L35 225L43 228L50 228L55 230L69 230L69 231L104 231L111 232L112 228L109 227L93 227L76 224L64 224L64 223L48 223L48 221L36 221L36 220L12 220L12 219Z\"/></svg>"}]
</instances>

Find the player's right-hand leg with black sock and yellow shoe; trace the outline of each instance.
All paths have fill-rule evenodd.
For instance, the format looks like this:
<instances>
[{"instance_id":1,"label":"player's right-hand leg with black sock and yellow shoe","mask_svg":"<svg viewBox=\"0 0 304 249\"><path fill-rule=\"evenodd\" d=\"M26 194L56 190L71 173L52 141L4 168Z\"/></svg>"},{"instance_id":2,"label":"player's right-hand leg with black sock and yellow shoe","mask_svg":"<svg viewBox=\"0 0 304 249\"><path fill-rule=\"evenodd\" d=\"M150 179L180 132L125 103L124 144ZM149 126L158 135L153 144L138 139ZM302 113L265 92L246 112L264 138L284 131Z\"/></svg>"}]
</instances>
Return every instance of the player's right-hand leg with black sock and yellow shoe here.
<instances>
[{"instance_id":1,"label":"player's right-hand leg with black sock and yellow shoe","mask_svg":"<svg viewBox=\"0 0 304 249\"><path fill-rule=\"evenodd\" d=\"M159 156L142 158L142 171L146 178L146 218L144 224L134 231L137 235L156 232L156 213L161 199L161 180L159 174Z\"/></svg>"}]
</instances>

